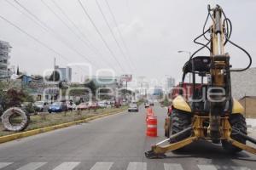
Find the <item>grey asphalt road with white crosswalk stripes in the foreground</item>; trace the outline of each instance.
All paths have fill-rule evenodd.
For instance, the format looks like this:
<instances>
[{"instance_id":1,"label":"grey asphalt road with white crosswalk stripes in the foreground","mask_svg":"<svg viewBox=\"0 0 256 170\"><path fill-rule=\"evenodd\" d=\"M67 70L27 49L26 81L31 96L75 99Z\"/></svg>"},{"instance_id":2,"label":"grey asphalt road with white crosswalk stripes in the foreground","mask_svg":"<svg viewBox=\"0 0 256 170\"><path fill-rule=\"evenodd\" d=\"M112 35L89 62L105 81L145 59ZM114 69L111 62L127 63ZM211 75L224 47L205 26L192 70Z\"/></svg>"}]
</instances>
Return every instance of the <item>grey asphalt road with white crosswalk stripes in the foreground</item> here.
<instances>
[{"instance_id":1,"label":"grey asphalt road with white crosswalk stripes in the foreground","mask_svg":"<svg viewBox=\"0 0 256 170\"><path fill-rule=\"evenodd\" d=\"M166 110L154 106L158 138L145 136L145 109L124 112L81 125L0 144L0 169L19 170L248 170L256 156L230 156L205 141L190 144L165 159L148 160L144 152L164 139Z\"/></svg>"}]
</instances>

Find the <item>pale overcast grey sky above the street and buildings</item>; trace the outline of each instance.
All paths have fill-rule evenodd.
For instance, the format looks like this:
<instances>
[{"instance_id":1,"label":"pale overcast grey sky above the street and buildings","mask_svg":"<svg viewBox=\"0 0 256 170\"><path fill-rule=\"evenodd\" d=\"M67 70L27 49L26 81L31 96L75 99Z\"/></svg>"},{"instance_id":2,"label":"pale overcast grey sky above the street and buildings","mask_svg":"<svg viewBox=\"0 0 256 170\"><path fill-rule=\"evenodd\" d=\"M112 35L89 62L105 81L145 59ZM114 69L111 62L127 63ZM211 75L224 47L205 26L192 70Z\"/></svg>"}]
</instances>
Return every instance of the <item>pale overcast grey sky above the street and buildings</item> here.
<instances>
[{"instance_id":1,"label":"pale overcast grey sky above the street and buildings","mask_svg":"<svg viewBox=\"0 0 256 170\"><path fill-rule=\"evenodd\" d=\"M199 48L193 39L202 32L207 4L219 4L233 24L230 39L247 49L256 66L256 1L80 1L90 19L78 0L0 0L0 15L36 38L0 18L0 40L12 46L10 65L19 65L20 71L28 74L43 75L53 68L55 58L57 65L73 68L74 81L82 80L91 70L94 75L132 74L156 85L166 77L175 77L178 82L189 54L177 51L194 52ZM233 67L247 65L246 55L236 48L228 45L225 52L230 54Z\"/></svg>"}]
</instances>

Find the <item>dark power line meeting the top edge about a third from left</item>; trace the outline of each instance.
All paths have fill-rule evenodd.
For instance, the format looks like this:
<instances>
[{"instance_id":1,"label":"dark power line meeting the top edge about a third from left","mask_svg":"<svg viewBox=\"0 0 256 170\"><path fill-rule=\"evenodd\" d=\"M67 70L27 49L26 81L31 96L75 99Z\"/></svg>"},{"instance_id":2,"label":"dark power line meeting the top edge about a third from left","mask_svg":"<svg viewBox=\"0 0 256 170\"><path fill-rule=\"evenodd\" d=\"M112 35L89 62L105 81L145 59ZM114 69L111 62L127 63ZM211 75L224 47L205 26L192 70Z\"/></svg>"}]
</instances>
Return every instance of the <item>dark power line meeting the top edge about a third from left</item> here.
<instances>
[{"instance_id":1,"label":"dark power line meeting the top edge about a third from left","mask_svg":"<svg viewBox=\"0 0 256 170\"><path fill-rule=\"evenodd\" d=\"M90 20L90 23L92 24L92 26L94 26L94 28L96 29L96 32L99 34L99 36L102 39L102 42L104 43L104 45L106 46L106 48L108 48L108 51L110 52L110 54L112 55L113 59L115 59L115 61L117 62L117 64L119 65L121 71L125 72L123 67L120 65L119 60L115 57L115 55L113 54L113 51L111 48L109 48L108 43L106 42L106 40L104 39L104 37L102 36L102 33L99 31L99 29L97 28L96 24L94 23L94 21L91 19L90 14L88 14L87 10L84 8L83 3L79 1L79 5L81 6L81 8L84 11L84 14L88 17L88 19Z\"/></svg>"}]
</instances>

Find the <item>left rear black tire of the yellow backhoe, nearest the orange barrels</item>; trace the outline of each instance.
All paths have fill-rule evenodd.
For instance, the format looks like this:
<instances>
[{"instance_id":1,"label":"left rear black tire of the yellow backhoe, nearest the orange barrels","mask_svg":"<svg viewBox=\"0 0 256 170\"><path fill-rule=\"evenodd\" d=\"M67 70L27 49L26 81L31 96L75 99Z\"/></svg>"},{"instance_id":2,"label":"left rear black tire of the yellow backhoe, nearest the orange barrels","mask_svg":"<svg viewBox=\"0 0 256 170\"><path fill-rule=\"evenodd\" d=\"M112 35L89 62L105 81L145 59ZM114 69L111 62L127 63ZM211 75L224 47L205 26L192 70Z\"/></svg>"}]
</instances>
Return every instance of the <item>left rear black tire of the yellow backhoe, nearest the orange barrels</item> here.
<instances>
[{"instance_id":1,"label":"left rear black tire of the yellow backhoe, nearest the orange barrels","mask_svg":"<svg viewBox=\"0 0 256 170\"><path fill-rule=\"evenodd\" d=\"M172 110L171 115L171 135L175 133L179 133L183 131L183 129L189 127L191 125L191 113L179 110ZM170 134L169 134L170 135ZM176 139L172 139L170 143L179 142L183 139L189 138L191 132L183 133L183 135L177 137Z\"/></svg>"}]
</instances>

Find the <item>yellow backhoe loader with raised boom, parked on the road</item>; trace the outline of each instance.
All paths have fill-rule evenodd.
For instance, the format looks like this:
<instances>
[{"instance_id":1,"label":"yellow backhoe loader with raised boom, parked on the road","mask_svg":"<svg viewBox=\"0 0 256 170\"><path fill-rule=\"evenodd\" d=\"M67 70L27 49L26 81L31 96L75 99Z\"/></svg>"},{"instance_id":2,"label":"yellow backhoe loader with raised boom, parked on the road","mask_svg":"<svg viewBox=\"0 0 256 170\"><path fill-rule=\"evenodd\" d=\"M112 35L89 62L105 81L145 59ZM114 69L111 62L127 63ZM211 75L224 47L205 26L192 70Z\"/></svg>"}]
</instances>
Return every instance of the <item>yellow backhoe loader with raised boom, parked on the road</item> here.
<instances>
[{"instance_id":1,"label":"yellow backhoe loader with raised boom, parked on the road","mask_svg":"<svg viewBox=\"0 0 256 170\"><path fill-rule=\"evenodd\" d=\"M250 54L244 48L230 41L232 24L224 14L223 8L208 5L207 20L203 32L194 42L202 47L195 51L183 66L183 81L179 92L172 101L170 122L166 123L168 139L154 144L145 156L160 158L167 151L177 150L199 139L222 144L224 150L235 153L247 150L256 154L256 149L248 146L247 141L256 144L256 140L247 136L247 125L243 116L244 109L231 95L231 71L245 71L252 64ZM206 29L208 20L212 25ZM205 38L207 43L198 42ZM248 56L248 65L243 69L232 69L230 55L224 47L230 43L240 48ZM207 48L209 56L195 56L201 49ZM186 96L185 77L192 75L191 96ZM169 144L163 145L168 142Z\"/></svg>"}]
</instances>

